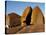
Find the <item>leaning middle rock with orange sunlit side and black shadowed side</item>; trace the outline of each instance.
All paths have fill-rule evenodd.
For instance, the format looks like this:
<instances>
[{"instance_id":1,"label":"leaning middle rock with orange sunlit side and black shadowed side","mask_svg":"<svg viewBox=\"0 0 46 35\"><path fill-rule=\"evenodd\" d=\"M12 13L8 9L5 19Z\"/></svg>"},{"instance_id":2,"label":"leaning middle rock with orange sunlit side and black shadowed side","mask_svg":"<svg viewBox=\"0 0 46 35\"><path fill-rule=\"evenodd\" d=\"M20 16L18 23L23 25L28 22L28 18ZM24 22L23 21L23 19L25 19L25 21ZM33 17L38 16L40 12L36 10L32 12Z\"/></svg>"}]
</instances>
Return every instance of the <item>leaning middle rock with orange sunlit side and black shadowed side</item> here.
<instances>
[{"instance_id":1,"label":"leaning middle rock with orange sunlit side and black shadowed side","mask_svg":"<svg viewBox=\"0 0 46 35\"><path fill-rule=\"evenodd\" d=\"M21 26L29 25L32 14L32 8L27 7L21 16Z\"/></svg>"}]
</instances>

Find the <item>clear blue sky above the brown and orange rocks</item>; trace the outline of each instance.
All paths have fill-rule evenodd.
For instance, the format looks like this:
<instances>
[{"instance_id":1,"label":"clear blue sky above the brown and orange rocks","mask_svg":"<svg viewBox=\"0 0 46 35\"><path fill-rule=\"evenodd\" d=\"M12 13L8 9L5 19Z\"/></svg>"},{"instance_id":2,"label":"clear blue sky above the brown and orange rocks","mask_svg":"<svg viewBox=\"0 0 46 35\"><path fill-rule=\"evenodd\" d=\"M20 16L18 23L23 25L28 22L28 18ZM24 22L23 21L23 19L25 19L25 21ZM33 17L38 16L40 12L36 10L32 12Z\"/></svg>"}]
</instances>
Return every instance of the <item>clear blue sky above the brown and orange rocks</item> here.
<instances>
[{"instance_id":1,"label":"clear blue sky above the brown and orange rocks","mask_svg":"<svg viewBox=\"0 0 46 35\"><path fill-rule=\"evenodd\" d=\"M22 15L25 8L27 6L31 6L32 9L36 6L42 10L43 14L45 14L45 4L44 3L34 3L34 2L20 2L20 1L7 1L6 3L6 14L9 13L17 13L18 15Z\"/></svg>"}]
</instances>

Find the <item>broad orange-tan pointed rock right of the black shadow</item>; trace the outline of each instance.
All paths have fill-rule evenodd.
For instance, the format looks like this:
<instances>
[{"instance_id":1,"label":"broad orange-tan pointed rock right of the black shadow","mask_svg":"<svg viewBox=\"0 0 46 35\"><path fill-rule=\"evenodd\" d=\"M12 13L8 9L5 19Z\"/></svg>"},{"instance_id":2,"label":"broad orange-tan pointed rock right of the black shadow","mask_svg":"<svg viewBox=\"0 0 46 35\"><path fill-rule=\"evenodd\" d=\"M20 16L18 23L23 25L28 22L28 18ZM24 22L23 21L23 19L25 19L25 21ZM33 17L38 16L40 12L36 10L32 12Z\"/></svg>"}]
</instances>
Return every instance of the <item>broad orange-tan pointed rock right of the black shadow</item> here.
<instances>
[{"instance_id":1,"label":"broad orange-tan pointed rock right of the black shadow","mask_svg":"<svg viewBox=\"0 0 46 35\"><path fill-rule=\"evenodd\" d=\"M38 22L37 22L38 21ZM32 11L32 21L31 23L43 23L43 14L39 7L35 7Z\"/></svg>"}]
</instances>

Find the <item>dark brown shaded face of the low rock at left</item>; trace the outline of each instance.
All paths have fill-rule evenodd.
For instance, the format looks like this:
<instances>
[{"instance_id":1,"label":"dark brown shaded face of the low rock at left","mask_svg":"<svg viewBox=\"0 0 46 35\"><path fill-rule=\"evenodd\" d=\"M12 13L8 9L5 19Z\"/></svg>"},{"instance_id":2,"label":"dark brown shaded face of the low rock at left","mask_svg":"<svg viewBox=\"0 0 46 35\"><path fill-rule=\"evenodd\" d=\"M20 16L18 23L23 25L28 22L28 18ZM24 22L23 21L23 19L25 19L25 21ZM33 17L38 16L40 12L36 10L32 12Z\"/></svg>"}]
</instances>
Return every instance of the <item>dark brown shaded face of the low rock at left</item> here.
<instances>
[{"instance_id":1,"label":"dark brown shaded face of the low rock at left","mask_svg":"<svg viewBox=\"0 0 46 35\"><path fill-rule=\"evenodd\" d=\"M16 13L10 13L10 14L8 14L8 16L10 19L10 22L9 22L10 27L15 27L20 24L20 16L19 15L17 15Z\"/></svg>"}]
</instances>

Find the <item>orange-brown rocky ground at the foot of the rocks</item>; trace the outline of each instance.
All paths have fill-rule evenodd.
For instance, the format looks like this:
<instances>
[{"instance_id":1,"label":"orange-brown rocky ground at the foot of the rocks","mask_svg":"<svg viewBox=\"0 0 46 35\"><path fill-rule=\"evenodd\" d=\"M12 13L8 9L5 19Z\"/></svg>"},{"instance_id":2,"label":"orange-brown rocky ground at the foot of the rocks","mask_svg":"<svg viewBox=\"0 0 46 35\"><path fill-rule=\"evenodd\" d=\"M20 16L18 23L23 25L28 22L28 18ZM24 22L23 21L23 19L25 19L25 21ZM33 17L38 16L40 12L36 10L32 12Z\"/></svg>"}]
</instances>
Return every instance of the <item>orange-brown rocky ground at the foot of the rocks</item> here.
<instances>
[{"instance_id":1,"label":"orange-brown rocky ground at the foot of the rocks","mask_svg":"<svg viewBox=\"0 0 46 35\"><path fill-rule=\"evenodd\" d=\"M35 32L44 32L44 24L35 24L29 26L17 26L13 28L7 29L7 33L15 34L15 33L35 33Z\"/></svg>"}]
</instances>

